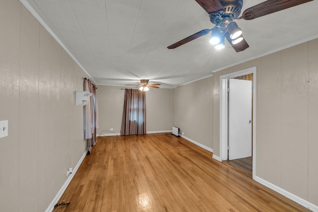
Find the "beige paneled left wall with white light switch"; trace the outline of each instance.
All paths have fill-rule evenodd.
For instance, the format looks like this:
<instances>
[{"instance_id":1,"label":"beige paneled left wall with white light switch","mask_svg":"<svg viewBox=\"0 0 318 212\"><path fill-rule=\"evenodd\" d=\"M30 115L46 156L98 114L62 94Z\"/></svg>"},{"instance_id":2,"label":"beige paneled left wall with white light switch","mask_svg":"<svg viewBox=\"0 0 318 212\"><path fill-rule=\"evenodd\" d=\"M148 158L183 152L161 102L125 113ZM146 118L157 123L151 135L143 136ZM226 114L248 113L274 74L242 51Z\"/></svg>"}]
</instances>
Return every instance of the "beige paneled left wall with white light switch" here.
<instances>
[{"instance_id":1,"label":"beige paneled left wall with white light switch","mask_svg":"<svg viewBox=\"0 0 318 212\"><path fill-rule=\"evenodd\" d=\"M0 211L43 212L86 149L85 74L20 1L1 1L0 28Z\"/></svg>"}]
</instances>

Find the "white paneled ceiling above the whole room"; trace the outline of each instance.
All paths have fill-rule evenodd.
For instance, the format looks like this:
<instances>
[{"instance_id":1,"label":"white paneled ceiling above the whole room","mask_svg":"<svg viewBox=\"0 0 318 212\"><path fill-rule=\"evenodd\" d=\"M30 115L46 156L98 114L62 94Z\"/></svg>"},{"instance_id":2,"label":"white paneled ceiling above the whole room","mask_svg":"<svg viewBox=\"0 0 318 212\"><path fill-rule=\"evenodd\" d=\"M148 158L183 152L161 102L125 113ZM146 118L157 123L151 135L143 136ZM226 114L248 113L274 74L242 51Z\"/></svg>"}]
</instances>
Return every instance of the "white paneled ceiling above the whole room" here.
<instances>
[{"instance_id":1,"label":"white paneled ceiling above the whole room","mask_svg":"<svg viewBox=\"0 0 318 212\"><path fill-rule=\"evenodd\" d=\"M254 20L238 20L249 48L229 43L216 50L202 36L176 49L166 47L213 28L195 0L20 0L96 84L134 84L141 78L175 87L243 61L318 37L318 1ZM264 0L244 0L244 9Z\"/></svg>"}]
</instances>

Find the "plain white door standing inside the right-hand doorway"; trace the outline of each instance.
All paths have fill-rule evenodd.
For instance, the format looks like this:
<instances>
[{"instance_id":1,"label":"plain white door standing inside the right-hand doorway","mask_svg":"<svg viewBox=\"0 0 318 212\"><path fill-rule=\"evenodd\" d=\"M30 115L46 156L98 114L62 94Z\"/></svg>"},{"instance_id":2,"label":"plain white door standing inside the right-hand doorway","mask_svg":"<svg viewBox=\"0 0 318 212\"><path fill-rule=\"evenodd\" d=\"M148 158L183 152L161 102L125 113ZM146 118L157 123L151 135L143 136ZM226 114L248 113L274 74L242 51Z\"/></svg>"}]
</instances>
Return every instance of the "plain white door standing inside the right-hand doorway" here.
<instances>
[{"instance_id":1,"label":"plain white door standing inside the right-hand doorway","mask_svg":"<svg viewBox=\"0 0 318 212\"><path fill-rule=\"evenodd\" d=\"M252 156L252 81L229 79L229 160Z\"/></svg>"}]
</instances>

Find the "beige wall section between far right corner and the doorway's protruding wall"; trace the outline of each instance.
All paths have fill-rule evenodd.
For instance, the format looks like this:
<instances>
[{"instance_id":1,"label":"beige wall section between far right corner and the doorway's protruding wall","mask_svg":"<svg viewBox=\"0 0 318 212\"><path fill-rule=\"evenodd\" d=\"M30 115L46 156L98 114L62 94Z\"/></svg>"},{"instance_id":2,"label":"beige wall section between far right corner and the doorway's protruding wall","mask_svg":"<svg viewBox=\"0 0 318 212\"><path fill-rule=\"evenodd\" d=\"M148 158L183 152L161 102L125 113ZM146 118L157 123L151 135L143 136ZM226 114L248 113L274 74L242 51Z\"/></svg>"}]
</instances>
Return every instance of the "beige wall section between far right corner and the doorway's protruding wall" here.
<instances>
[{"instance_id":1,"label":"beige wall section between far right corner and the doorway's protruding wall","mask_svg":"<svg viewBox=\"0 0 318 212\"><path fill-rule=\"evenodd\" d=\"M172 91L172 123L183 136L213 149L214 77L201 79Z\"/></svg>"}]
</instances>

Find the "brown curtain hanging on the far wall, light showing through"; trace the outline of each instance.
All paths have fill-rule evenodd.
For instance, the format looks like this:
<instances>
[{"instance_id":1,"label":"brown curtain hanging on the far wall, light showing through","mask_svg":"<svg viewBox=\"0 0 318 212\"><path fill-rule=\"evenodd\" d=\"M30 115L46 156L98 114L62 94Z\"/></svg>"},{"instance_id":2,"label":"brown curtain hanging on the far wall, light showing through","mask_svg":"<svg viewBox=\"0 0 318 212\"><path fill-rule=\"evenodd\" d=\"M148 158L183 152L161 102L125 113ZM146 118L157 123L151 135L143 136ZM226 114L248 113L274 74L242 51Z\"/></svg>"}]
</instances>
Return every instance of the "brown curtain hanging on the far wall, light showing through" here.
<instances>
[{"instance_id":1,"label":"brown curtain hanging on the far wall, light showing through","mask_svg":"<svg viewBox=\"0 0 318 212\"><path fill-rule=\"evenodd\" d=\"M121 135L146 134L146 92L125 89Z\"/></svg>"}]
</instances>

